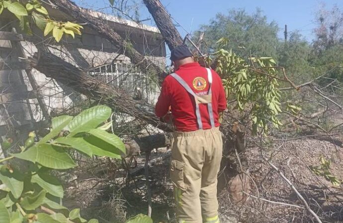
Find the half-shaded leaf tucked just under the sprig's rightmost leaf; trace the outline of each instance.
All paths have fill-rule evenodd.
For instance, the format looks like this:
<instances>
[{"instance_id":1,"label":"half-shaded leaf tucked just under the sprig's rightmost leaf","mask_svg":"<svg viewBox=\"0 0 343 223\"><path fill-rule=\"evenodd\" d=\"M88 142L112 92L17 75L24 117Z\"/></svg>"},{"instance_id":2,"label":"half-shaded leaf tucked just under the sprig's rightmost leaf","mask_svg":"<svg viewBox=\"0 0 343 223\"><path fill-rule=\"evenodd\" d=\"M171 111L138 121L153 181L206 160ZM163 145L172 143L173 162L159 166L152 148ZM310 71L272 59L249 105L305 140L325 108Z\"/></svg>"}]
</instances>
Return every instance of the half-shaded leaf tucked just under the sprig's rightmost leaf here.
<instances>
[{"instance_id":1,"label":"half-shaded leaf tucked just under the sprig's rightmost leaf","mask_svg":"<svg viewBox=\"0 0 343 223\"><path fill-rule=\"evenodd\" d=\"M121 151L117 148L113 147L111 144L108 144L107 142L93 136L89 135L84 138L85 141L88 143L90 149L93 152L93 155L99 156L99 157L110 157L114 159L120 159L121 158Z\"/></svg>"}]
</instances>

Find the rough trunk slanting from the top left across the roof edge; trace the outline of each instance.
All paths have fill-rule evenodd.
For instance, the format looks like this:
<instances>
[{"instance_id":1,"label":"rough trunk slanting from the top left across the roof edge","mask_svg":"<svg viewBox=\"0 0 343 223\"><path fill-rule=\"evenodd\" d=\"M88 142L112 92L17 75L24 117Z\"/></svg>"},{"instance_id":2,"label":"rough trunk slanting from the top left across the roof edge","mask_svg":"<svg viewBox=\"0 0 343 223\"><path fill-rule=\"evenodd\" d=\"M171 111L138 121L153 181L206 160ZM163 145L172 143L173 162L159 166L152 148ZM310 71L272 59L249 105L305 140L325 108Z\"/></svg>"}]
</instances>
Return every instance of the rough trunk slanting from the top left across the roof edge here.
<instances>
[{"instance_id":1,"label":"rough trunk slanting from the top left across the roof edge","mask_svg":"<svg viewBox=\"0 0 343 223\"><path fill-rule=\"evenodd\" d=\"M56 8L72 16L75 20L87 23L89 28L98 32L99 36L107 39L111 44L118 47L118 53L131 59L131 62L137 64L147 73L154 73L164 77L164 71L152 60L141 55L132 45L124 40L112 27L107 25L103 19L91 16L86 9L83 9L70 0L50 0Z\"/></svg>"}]
</instances>

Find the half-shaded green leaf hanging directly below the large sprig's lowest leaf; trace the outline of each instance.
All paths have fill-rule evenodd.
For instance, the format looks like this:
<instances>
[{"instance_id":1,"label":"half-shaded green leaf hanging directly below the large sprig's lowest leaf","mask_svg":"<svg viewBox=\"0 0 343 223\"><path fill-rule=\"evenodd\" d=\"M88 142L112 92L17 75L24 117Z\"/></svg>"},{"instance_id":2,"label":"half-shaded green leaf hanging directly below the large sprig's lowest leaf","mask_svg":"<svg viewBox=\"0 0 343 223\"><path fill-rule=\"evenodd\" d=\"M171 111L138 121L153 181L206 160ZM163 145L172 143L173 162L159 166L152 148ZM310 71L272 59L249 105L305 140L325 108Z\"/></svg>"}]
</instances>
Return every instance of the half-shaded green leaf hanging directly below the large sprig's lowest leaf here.
<instances>
[{"instance_id":1,"label":"half-shaded green leaf hanging directly below the large sprig's lowest leaf","mask_svg":"<svg viewBox=\"0 0 343 223\"><path fill-rule=\"evenodd\" d=\"M32 183L37 183L40 187L42 187L46 192L55 197L63 198L63 187L61 182L51 174L47 173L40 173L32 175L31 177Z\"/></svg>"}]
</instances>

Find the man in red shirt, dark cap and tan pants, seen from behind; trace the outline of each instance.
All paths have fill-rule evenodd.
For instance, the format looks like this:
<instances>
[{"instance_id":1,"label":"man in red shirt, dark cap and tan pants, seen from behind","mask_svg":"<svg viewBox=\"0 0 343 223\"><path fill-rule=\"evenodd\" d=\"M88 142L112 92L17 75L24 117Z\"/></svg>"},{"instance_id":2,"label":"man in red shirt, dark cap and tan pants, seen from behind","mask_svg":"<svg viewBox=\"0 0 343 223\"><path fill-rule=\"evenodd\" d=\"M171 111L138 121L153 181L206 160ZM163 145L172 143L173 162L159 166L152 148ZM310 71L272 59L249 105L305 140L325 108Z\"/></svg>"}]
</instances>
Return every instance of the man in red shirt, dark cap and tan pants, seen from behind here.
<instances>
[{"instance_id":1,"label":"man in red shirt, dark cap and tan pants, seen from behind","mask_svg":"<svg viewBox=\"0 0 343 223\"><path fill-rule=\"evenodd\" d=\"M171 51L175 73L166 77L155 113L173 116L171 182L179 223L219 223L217 174L223 142L219 113L226 98L219 75L193 61L185 46Z\"/></svg>"}]
</instances>

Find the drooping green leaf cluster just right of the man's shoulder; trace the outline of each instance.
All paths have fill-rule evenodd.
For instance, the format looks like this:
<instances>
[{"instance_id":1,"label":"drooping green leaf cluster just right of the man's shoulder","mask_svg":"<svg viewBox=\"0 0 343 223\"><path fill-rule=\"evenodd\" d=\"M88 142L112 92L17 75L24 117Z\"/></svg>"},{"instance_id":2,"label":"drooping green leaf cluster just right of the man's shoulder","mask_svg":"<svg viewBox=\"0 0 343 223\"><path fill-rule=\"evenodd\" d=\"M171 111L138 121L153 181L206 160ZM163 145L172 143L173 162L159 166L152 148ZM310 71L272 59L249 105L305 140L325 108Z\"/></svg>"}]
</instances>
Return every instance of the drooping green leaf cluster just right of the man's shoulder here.
<instances>
[{"instance_id":1,"label":"drooping green leaf cluster just right of the man's shoulder","mask_svg":"<svg viewBox=\"0 0 343 223\"><path fill-rule=\"evenodd\" d=\"M218 41L219 48L226 41ZM253 132L267 131L271 120L275 127L282 125L277 115L280 109L280 91L272 57L250 57L248 62L232 51L217 50L213 55L216 71L221 75L228 100L235 99L234 109L250 110ZM211 58L210 58L211 60Z\"/></svg>"}]
</instances>

